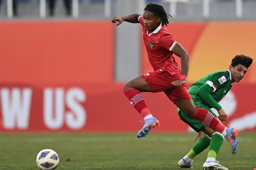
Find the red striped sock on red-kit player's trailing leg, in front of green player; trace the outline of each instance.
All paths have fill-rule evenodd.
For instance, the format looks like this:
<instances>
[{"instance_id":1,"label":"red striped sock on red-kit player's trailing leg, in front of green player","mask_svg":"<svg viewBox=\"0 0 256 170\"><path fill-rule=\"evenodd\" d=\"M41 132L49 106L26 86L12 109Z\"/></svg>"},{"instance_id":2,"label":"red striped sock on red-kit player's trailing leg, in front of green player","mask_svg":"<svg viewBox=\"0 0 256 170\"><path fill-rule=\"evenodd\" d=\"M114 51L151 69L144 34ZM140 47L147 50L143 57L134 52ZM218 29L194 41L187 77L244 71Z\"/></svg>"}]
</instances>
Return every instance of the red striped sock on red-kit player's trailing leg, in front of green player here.
<instances>
[{"instance_id":1,"label":"red striped sock on red-kit player's trailing leg, in front of green player","mask_svg":"<svg viewBox=\"0 0 256 170\"><path fill-rule=\"evenodd\" d=\"M218 119L216 119L216 117L214 117L214 115L212 115L212 113L210 113L209 111L205 110L205 109L201 109L196 107L192 118L197 119L199 121L201 121L204 125L222 133L226 126L224 126Z\"/></svg>"}]
</instances>

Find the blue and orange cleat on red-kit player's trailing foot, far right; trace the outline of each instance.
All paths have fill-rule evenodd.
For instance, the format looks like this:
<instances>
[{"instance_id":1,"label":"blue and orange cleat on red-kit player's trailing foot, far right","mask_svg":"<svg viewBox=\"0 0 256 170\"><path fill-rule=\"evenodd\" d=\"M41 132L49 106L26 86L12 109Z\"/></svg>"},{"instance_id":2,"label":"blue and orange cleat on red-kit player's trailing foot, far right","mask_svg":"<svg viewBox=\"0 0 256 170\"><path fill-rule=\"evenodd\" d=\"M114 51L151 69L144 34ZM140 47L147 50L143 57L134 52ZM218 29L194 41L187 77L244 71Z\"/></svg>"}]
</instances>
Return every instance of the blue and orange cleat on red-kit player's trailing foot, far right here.
<instances>
[{"instance_id":1,"label":"blue and orange cleat on red-kit player's trailing foot, far right","mask_svg":"<svg viewBox=\"0 0 256 170\"><path fill-rule=\"evenodd\" d=\"M231 152L232 154L235 154L238 149L238 141L236 139L238 133L238 129L236 128L230 128L226 129L227 135L225 136L226 140L228 141L229 145L231 146Z\"/></svg>"}]
</instances>

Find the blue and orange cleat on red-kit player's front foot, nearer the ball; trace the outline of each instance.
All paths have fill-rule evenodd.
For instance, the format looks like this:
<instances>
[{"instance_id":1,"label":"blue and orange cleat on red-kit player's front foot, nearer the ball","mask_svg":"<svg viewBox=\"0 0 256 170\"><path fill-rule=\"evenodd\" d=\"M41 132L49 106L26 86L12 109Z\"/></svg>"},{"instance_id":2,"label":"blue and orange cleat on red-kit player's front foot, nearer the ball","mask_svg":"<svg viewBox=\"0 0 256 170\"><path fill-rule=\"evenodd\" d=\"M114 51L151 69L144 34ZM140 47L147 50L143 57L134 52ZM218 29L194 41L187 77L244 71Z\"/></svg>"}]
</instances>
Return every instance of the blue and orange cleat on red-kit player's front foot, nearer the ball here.
<instances>
[{"instance_id":1,"label":"blue and orange cleat on red-kit player's front foot, nearer the ball","mask_svg":"<svg viewBox=\"0 0 256 170\"><path fill-rule=\"evenodd\" d=\"M151 117L151 118L148 118L148 119L145 119L144 120L144 126L142 129L140 129L140 131L138 132L137 134L137 137L138 138L142 138L142 137L145 137L151 128L156 128L157 126L159 126L159 121L158 119L154 118L154 117Z\"/></svg>"}]
</instances>

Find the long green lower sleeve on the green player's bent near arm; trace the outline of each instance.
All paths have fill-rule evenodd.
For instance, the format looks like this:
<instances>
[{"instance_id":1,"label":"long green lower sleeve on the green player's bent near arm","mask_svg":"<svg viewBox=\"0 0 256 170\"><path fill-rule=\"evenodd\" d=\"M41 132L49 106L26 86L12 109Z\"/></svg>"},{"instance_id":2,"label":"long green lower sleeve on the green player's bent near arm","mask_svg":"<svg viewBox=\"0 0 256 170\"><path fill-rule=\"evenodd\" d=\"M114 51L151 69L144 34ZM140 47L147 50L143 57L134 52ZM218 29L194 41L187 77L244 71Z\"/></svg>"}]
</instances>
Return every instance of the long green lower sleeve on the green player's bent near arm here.
<instances>
[{"instance_id":1,"label":"long green lower sleeve on the green player's bent near arm","mask_svg":"<svg viewBox=\"0 0 256 170\"><path fill-rule=\"evenodd\" d=\"M216 102L212 96L211 93L212 88L208 84L202 85L198 90L197 90L197 95L202 98L202 100L210 107L213 107L217 111L222 109L222 107Z\"/></svg>"}]
</instances>

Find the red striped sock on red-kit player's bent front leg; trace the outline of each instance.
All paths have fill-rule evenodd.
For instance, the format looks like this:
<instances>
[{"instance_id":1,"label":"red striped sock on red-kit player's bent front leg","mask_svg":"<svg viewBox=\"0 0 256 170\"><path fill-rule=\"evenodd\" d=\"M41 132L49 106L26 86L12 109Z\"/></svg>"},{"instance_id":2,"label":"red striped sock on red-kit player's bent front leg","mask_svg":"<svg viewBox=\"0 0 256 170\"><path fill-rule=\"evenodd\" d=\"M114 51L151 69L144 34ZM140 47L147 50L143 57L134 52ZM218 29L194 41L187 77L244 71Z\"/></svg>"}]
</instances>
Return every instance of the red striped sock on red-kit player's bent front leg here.
<instances>
[{"instance_id":1,"label":"red striped sock on red-kit player's bent front leg","mask_svg":"<svg viewBox=\"0 0 256 170\"><path fill-rule=\"evenodd\" d=\"M124 89L124 94L130 100L130 104L142 114L142 117L146 117L150 114L148 107L146 106L144 96L142 93L135 88Z\"/></svg>"}]
</instances>

